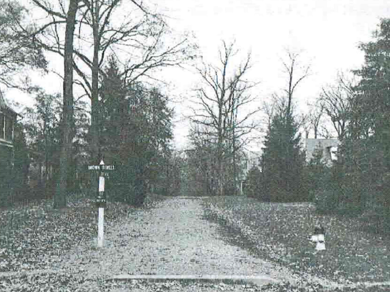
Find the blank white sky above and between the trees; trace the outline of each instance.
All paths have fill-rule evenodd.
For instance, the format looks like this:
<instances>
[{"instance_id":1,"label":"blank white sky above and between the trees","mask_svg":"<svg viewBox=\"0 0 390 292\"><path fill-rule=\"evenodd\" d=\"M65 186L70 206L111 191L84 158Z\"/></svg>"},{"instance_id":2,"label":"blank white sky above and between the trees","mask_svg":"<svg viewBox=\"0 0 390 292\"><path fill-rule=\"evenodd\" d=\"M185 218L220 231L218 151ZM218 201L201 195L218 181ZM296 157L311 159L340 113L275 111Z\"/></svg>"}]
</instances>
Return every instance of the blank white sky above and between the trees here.
<instances>
[{"instance_id":1,"label":"blank white sky above and between the trees","mask_svg":"<svg viewBox=\"0 0 390 292\"><path fill-rule=\"evenodd\" d=\"M284 49L302 51L302 64L310 64L312 69L295 95L302 111L307 100L313 100L323 85L335 80L338 71L356 69L363 63L359 42L370 39L379 18L390 17L390 4L384 0L151 1L170 17L175 31L194 32L208 61L217 61L223 39L235 39L243 57L250 50L254 63L250 79L260 82L252 93L257 105L286 84L281 64ZM55 62L63 61L57 58ZM50 93L62 90L61 81L53 76L34 79ZM166 79L173 84L172 95L184 100L198 81L196 75L178 69L169 70ZM27 102L25 95L4 91L7 98ZM178 148L184 146L187 134L187 122L180 121L187 104L174 104Z\"/></svg>"}]
</instances>

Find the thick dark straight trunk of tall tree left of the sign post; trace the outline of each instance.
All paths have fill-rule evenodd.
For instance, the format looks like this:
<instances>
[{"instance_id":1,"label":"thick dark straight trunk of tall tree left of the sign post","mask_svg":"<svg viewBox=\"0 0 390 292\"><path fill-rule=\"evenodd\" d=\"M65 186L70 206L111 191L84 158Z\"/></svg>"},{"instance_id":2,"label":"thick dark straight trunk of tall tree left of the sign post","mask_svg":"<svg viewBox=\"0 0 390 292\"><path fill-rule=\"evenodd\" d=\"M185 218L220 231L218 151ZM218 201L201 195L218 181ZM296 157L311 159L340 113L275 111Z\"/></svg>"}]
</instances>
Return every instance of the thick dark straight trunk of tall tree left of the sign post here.
<instances>
[{"instance_id":1,"label":"thick dark straight trunk of tall tree left of the sign post","mask_svg":"<svg viewBox=\"0 0 390 292\"><path fill-rule=\"evenodd\" d=\"M70 161L73 139L73 34L76 12L79 0L70 0L66 18L65 49L64 49L64 82L63 82L63 112L62 112L62 145L60 152L60 169L57 189L54 195L54 208L66 207L68 191L67 182L70 179Z\"/></svg>"}]
</instances>

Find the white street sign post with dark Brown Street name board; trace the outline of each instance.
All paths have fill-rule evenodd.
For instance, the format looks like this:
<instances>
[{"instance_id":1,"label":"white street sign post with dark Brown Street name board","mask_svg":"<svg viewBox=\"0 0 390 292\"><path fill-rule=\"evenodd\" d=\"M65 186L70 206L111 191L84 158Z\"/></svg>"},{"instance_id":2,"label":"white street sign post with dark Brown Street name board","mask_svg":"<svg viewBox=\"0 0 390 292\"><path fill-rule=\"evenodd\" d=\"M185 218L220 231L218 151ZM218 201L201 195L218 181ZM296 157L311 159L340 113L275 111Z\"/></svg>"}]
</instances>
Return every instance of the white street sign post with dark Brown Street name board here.
<instances>
[{"instance_id":1,"label":"white street sign post with dark Brown Street name board","mask_svg":"<svg viewBox=\"0 0 390 292\"><path fill-rule=\"evenodd\" d=\"M97 190L96 205L98 208L97 217L97 247L103 247L104 245L104 208L106 206L105 195L105 171L115 170L113 165L105 165L102 160L99 165L88 165L88 170L99 170L99 186Z\"/></svg>"}]
</instances>

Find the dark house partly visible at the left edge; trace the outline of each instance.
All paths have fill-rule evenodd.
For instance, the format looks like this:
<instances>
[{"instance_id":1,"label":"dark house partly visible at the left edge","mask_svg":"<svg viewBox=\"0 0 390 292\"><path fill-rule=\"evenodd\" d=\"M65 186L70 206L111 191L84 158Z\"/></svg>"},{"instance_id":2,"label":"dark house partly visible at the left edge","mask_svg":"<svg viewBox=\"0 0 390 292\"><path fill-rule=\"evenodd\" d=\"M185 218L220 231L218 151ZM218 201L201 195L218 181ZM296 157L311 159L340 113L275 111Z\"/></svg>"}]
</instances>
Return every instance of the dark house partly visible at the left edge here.
<instances>
[{"instance_id":1,"label":"dark house partly visible at the left edge","mask_svg":"<svg viewBox=\"0 0 390 292\"><path fill-rule=\"evenodd\" d=\"M0 90L0 188L9 181L14 166L14 124L18 114L4 101Z\"/></svg>"}]
</instances>

